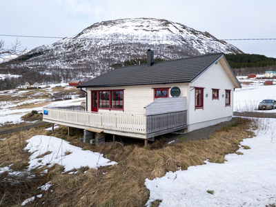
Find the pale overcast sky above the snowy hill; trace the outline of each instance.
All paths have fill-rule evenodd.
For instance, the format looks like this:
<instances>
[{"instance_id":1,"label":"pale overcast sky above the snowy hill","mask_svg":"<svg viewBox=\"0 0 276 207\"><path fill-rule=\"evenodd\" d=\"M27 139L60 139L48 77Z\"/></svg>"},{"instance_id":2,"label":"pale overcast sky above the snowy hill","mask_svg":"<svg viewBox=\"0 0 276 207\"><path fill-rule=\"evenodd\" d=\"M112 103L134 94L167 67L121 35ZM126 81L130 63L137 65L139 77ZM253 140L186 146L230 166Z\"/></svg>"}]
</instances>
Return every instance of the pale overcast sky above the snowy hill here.
<instances>
[{"instance_id":1,"label":"pale overcast sky above the snowy hill","mask_svg":"<svg viewBox=\"0 0 276 207\"><path fill-rule=\"evenodd\" d=\"M151 17L217 39L275 38L275 0L0 0L0 34L71 37L99 21ZM3 37L6 46L17 37ZM28 49L59 39L18 37ZM276 57L276 40L228 41L250 54Z\"/></svg>"}]
</instances>

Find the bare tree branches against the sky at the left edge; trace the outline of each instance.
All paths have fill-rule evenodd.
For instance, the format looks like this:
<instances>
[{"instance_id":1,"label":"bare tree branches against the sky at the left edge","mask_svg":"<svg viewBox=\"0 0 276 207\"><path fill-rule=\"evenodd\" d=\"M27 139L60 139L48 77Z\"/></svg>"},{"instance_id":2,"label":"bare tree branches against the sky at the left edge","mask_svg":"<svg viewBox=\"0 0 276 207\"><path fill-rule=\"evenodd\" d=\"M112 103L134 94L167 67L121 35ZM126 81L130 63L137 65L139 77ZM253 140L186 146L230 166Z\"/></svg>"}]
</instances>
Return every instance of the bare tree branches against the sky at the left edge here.
<instances>
[{"instance_id":1,"label":"bare tree branches against the sky at the left edge","mask_svg":"<svg viewBox=\"0 0 276 207\"><path fill-rule=\"evenodd\" d=\"M4 41L0 40L0 59L7 55L19 55L19 53L24 52L26 48L22 48L21 42L17 39L11 46L6 47Z\"/></svg>"}]
</instances>

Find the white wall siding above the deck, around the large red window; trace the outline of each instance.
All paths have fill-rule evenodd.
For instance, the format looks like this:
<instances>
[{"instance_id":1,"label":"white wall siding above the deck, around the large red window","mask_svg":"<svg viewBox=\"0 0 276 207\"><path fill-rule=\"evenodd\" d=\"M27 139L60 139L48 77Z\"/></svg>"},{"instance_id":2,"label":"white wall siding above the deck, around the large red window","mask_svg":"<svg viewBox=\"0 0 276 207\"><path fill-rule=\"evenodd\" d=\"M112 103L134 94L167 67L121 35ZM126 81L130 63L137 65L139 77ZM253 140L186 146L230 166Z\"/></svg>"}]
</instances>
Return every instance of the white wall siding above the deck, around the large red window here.
<instances>
[{"instance_id":1,"label":"white wall siding above the deck, around the large red window","mask_svg":"<svg viewBox=\"0 0 276 207\"><path fill-rule=\"evenodd\" d=\"M88 88L88 110L91 110L91 90L124 90L124 112L120 110L102 109L99 109L99 112L141 115L144 114L144 107L152 103L152 101L154 101L154 89L152 88L172 88L174 86L179 87L181 90L181 94L179 97L187 96L188 83L155 84L141 86L116 86L112 88Z\"/></svg>"}]
</instances>

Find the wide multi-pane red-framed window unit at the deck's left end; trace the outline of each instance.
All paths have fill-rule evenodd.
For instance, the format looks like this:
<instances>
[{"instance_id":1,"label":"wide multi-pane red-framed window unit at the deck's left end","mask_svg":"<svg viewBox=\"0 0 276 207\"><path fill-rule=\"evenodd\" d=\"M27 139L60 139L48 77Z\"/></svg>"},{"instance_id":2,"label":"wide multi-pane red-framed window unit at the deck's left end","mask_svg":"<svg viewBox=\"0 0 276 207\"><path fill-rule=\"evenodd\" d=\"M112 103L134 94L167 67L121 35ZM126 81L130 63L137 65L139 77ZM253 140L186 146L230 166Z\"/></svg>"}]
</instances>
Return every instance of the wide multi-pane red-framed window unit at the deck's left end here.
<instances>
[{"instance_id":1,"label":"wide multi-pane red-framed window unit at the deck's left end","mask_svg":"<svg viewBox=\"0 0 276 207\"><path fill-rule=\"evenodd\" d=\"M92 111L98 109L124 110L124 90L91 91Z\"/></svg>"}]
</instances>

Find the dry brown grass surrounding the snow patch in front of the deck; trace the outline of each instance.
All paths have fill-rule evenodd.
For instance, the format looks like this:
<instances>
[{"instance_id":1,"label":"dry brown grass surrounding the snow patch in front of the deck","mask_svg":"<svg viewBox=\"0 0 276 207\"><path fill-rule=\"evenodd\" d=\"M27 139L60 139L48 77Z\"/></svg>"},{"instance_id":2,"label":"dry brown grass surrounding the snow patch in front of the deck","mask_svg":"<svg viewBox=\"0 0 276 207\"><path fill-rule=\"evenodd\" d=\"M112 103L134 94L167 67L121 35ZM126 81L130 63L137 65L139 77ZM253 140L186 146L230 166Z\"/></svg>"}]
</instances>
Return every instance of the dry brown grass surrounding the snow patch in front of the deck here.
<instances>
[{"instance_id":1,"label":"dry brown grass surrounding the snow patch in front of the deck","mask_svg":"<svg viewBox=\"0 0 276 207\"><path fill-rule=\"evenodd\" d=\"M242 139L253 137L253 132L248 130L249 125L248 119L239 119L236 124L215 132L208 139L185 141L175 146L164 146L162 139L159 139L148 148L139 144L119 142L106 142L99 147L79 144L81 131L71 130L72 134L68 137L66 127L59 127L53 133L44 132L66 139L81 148L86 147L103 153L105 157L117 161L118 164L98 170L81 168L77 174L72 175L61 173L63 167L59 165L52 166L48 168L48 175L43 181L52 181L53 193L50 190L44 192L43 197L30 203L30 206L144 206L149 197L149 190L144 186L146 178L162 177L166 172L179 168L186 170L188 166L204 164L206 159L224 162L224 155L235 152ZM1 166L13 163L17 166L14 170L26 168L28 152L22 150L24 141L38 133L43 134L43 131L28 130L2 141ZM12 148L13 145L15 148ZM1 191L0 187L0 199L2 196L3 190ZM158 206L160 202L157 200L152 206Z\"/></svg>"}]
</instances>

